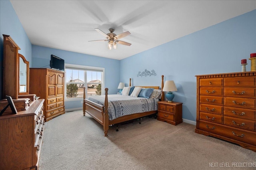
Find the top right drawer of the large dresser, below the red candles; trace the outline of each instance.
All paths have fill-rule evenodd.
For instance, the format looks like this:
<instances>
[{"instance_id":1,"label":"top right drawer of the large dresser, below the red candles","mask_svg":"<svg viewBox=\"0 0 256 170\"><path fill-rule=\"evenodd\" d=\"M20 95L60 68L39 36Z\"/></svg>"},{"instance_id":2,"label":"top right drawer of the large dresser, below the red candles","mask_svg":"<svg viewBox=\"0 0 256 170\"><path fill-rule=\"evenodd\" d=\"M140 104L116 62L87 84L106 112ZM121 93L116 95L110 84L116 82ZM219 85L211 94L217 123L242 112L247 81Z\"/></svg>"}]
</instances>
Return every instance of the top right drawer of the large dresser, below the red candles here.
<instances>
[{"instance_id":1,"label":"top right drawer of the large dresser, below the red candles","mask_svg":"<svg viewBox=\"0 0 256 170\"><path fill-rule=\"evenodd\" d=\"M224 86L255 86L254 77L224 78Z\"/></svg>"}]
</instances>

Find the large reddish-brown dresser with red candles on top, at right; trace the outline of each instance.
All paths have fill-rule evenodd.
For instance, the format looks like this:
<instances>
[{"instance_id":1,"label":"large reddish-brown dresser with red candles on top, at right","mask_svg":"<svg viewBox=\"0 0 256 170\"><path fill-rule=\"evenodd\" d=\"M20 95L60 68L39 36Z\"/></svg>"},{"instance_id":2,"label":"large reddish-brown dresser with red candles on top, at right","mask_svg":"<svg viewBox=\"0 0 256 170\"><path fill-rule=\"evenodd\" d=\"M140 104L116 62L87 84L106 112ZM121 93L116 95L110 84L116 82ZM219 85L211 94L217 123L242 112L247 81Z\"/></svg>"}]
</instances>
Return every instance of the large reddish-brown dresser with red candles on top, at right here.
<instances>
[{"instance_id":1,"label":"large reddish-brown dresser with red candles on top, at right","mask_svg":"<svg viewBox=\"0 0 256 170\"><path fill-rule=\"evenodd\" d=\"M196 75L195 132L256 152L256 72Z\"/></svg>"}]
</instances>

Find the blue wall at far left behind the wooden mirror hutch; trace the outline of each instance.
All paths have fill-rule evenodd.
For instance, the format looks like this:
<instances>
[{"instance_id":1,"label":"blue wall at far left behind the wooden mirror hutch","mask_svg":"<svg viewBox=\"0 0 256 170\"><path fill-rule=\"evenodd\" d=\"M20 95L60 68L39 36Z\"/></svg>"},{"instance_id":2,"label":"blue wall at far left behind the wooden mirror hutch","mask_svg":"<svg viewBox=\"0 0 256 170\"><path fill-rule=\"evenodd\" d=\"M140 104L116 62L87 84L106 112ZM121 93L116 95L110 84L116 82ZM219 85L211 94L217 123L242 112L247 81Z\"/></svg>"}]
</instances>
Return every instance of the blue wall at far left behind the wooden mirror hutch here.
<instances>
[{"instance_id":1,"label":"blue wall at far left behind the wooden mirror hutch","mask_svg":"<svg viewBox=\"0 0 256 170\"><path fill-rule=\"evenodd\" d=\"M0 0L0 99L3 99L3 34L11 38L19 45L19 53L26 57L30 62L32 60L32 45L12 4L9 0Z\"/></svg>"}]
</instances>

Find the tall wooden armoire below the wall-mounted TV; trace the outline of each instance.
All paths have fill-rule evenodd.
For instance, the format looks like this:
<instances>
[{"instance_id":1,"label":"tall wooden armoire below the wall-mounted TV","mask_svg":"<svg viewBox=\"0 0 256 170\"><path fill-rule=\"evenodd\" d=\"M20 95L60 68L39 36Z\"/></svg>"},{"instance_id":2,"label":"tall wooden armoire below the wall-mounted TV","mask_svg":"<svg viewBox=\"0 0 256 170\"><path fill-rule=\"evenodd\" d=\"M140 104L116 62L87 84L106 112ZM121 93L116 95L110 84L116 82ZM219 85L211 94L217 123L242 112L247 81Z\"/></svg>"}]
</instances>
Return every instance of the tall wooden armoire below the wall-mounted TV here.
<instances>
[{"instance_id":1,"label":"tall wooden armoire below the wall-mounted TV","mask_svg":"<svg viewBox=\"0 0 256 170\"><path fill-rule=\"evenodd\" d=\"M64 114L64 71L30 68L30 93L46 100L45 121Z\"/></svg>"}]
</instances>

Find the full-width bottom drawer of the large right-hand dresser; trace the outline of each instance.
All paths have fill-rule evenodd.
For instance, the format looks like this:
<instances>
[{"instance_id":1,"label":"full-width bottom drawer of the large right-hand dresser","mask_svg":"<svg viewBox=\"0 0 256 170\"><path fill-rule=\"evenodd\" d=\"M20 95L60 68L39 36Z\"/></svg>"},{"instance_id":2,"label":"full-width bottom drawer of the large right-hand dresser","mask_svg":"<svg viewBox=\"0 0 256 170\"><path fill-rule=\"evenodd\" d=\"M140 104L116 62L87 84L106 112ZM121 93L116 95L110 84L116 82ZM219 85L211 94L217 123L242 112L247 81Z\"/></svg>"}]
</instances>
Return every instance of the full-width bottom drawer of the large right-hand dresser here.
<instances>
[{"instance_id":1,"label":"full-width bottom drawer of the large right-hand dresser","mask_svg":"<svg viewBox=\"0 0 256 170\"><path fill-rule=\"evenodd\" d=\"M248 130L242 130L239 128L231 128L205 121L199 121L199 129L248 144L256 145L256 132L250 132Z\"/></svg>"}]
</instances>

